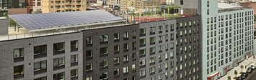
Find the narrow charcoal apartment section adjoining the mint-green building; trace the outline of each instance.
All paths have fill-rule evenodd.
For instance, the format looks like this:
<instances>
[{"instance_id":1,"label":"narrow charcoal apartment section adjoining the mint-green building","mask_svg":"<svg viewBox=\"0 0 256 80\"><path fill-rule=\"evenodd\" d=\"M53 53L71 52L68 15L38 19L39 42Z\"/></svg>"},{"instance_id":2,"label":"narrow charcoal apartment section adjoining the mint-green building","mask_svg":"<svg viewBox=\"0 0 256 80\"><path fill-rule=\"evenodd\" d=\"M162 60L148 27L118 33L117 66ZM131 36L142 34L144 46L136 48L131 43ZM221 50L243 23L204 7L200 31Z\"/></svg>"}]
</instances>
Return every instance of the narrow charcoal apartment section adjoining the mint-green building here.
<instances>
[{"instance_id":1,"label":"narrow charcoal apartment section adjoining the mint-green building","mask_svg":"<svg viewBox=\"0 0 256 80\"><path fill-rule=\"evenodd\" d=\"M202 80L201 17L176 19L176 80Z\"/></svg>"}]
</instances>

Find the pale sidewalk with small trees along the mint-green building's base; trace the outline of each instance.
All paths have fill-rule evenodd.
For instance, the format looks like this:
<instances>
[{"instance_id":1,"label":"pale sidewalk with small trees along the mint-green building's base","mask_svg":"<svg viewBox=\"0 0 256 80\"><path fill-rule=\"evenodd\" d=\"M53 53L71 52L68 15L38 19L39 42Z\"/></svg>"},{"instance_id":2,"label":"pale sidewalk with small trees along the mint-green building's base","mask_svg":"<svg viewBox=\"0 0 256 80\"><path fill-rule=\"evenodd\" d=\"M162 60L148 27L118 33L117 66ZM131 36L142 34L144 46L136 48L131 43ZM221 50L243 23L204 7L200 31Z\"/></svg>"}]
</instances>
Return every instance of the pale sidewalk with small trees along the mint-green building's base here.
<instances>
[{"instance_id":1,"label":"pale sidewalk with small trees along the mint-green building's base","mask_svg":"<svg viewBox=\"0 0 256 80\"><path fill-rule=\"evenodd\" d=\"M251 56L248 60L245 59L244 61L242 61L241 63L239 63L239 66L237 67L234 67L234 69L231 69L230 71L228 71L228 74L226 74L225 76L221 77L221 79L219 80L227 80L228 79L228 76L231 77L231 80L234 80L234 76L236 76L234 74L234 70L237 70L237 76L240 76L241 74L239 74L241 72L241 68L240 66L243 65L244 66L244 69L242 69L243 72L246 72L247 68L249 66L251 66L251 64L255 64L256 60L253 60L253 56ZM247 68L245 69L245 66L247 66Z\"/></svg>"}]
</instances>

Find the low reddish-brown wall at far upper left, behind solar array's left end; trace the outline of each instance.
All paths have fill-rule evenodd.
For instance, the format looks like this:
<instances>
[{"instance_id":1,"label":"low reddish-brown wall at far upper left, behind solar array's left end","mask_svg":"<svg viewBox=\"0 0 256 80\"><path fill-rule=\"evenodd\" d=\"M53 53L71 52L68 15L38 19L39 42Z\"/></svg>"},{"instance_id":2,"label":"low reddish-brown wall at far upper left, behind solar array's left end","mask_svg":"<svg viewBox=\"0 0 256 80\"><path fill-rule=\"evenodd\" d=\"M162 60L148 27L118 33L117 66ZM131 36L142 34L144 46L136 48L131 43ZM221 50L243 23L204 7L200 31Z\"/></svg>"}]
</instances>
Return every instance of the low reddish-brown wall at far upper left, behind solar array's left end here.
<instances>
[{"instance_id":1,"label":"low reddish-brown wall at far upper left, behind solar array's left end","mask_svg":"<svg viewBox=\"0 0 256 80\"><path fill-rule=\"evenodd\" d=\"M6 10L8 10L8 15L13 15L13 14L27 14L27 8L6 9Z\"/></svg>"}]
</instances>

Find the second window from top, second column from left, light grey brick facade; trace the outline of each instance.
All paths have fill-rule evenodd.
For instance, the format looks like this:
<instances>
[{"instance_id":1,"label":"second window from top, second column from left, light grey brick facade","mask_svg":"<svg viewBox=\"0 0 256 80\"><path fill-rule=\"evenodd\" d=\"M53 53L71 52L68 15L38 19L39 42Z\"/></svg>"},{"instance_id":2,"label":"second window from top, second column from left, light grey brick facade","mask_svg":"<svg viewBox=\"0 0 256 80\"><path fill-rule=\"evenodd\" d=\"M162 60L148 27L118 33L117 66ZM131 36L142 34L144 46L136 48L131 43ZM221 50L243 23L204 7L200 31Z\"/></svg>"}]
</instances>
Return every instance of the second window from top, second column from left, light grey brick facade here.
<instances>
[{"instance_id":1,"label":"second window from top, second column from left, light grey brick facade","mask_svg":"<svg viewBox=\"0 0 256 80\"><path fill-rule=\"evenodd\" d=\"M40 71L43 69L46 69L47 67L47 61L37 61L34 63L34 71Z\"/></svg>"}]
</instances>

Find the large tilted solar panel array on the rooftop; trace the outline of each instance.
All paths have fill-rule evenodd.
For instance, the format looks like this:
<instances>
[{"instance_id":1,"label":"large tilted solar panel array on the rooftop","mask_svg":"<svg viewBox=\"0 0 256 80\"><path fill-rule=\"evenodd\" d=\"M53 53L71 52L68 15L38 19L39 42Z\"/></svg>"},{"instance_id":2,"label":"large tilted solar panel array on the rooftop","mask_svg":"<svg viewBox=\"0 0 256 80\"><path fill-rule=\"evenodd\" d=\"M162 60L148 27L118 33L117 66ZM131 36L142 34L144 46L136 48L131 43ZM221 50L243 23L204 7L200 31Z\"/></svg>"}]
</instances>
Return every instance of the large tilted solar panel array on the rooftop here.
<instances>
[{"instance_id":1,"label":"large tilted solar panel array on the rooftop","mask_svg":"<svg viewBox=\"0 0 256 80\"><path fill-rule=\"evenodd\" d=\"M65 26L72 24L86 24L100 21L114 21L123 19L107 11L69 11L45 14L17 14L9 15L14 21L25 29L39 29L52 26Z\"/></svg>"}]
</instances>

